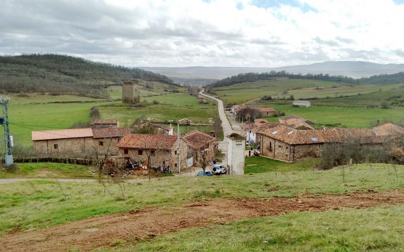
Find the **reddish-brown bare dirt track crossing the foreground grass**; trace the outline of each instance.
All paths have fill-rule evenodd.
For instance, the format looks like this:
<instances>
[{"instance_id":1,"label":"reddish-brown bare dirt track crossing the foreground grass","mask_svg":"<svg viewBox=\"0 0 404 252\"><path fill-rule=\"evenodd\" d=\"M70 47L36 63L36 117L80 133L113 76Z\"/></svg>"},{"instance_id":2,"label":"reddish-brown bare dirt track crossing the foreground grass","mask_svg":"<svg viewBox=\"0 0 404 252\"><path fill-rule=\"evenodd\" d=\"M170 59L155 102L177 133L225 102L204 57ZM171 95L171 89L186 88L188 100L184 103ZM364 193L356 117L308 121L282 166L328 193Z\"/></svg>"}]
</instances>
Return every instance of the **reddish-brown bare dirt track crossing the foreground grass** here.
<instances>
[{"instance_id":1,"label":"reddish-brown bare dirt track crossing the foreground grass","mask_svg":"<svg viewBox=\"0 0 404 252\"><path fill-rule=\"evenodd\" d=\"M1 237L0 250L88 250L108 246L114 239L152 238L185 228L225 224L260 216L395 204L404 204L404 190L304 196L293 199L218 199L181 205L180 209L148 208L89 218L36 231L10 232Z\"/></svg>"}]
</instances>

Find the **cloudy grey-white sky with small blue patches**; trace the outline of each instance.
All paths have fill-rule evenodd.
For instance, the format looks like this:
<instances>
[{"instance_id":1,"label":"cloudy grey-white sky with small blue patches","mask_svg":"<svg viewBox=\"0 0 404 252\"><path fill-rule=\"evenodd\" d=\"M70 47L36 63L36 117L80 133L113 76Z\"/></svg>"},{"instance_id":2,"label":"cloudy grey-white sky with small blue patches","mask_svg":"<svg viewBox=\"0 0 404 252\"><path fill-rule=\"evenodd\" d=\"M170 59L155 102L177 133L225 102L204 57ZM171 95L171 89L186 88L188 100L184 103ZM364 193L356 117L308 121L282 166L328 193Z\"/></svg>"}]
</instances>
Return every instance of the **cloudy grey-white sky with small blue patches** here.
<instances>
[{"instance_id":1,"label":"cloudy grey-white sky with small blue patches","mask_svg":"<svg viewBox=\"0 0 404 252\"><path fill-rule=\"evenodd\" d=\"M404 62L404 1L0 0L0 54L125 66Z\"/></svg>"}]
</instances>

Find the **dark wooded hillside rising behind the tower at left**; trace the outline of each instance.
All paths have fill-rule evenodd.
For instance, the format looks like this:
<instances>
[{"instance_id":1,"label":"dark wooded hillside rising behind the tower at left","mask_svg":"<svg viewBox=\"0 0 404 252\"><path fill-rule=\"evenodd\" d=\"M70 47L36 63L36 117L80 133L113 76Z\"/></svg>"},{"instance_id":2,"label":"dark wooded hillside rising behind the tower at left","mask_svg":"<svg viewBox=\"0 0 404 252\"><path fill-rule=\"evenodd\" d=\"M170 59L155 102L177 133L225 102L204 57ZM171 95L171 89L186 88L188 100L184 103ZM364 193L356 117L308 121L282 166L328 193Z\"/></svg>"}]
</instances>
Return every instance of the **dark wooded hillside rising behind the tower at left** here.
<instances>
[{"instance_id":1,"label":"dark wooded hillside rising behind the tower at left","mask_svg":"<svg viewBox=\"0 0 404 252\"><path fill-rule=\"evenodd\" d=\"M108 85L144 79L176 85L167 76L60 54L0 56L1 93L102 95Z\"/></svg>"}]
</instances>

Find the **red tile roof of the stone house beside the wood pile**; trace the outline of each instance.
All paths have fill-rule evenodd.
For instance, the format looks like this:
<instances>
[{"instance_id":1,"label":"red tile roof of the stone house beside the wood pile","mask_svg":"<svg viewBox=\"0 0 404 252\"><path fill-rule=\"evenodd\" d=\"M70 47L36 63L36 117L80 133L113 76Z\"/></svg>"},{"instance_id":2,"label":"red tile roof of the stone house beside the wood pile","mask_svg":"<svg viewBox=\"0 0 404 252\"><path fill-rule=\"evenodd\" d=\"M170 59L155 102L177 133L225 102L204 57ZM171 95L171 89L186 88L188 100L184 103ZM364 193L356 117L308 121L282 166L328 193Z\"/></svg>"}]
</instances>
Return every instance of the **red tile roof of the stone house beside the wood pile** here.
<instances>
[{"instance_id":1,"label":"red tile roof of the stone house beside the wood pile","mask_svg":"<svg viewBox=\"0 0 404 252\"><path fill-rule=\"evenodd\" d=\"M127 134L118 143L119 148L170 150L177 143L174 135Z\"/></svg>"}]
</instances>

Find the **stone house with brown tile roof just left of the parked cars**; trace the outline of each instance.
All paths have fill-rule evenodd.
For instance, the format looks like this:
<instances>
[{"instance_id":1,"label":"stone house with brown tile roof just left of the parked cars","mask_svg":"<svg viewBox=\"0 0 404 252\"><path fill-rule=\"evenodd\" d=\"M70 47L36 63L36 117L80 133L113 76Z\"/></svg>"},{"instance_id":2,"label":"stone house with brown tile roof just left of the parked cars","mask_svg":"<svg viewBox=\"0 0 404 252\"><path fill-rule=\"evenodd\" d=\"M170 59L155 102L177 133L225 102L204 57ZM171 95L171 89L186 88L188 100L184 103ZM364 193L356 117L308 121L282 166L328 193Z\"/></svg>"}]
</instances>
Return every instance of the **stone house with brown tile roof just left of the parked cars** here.
<instances>
[{"instance_id":1,"label":"stone house with brown tile roof just left of the parked cars","mask_svg":"<svg viewBox=\"0 0 404 252\"><path fill-rule=\"evenodd\" d=\"M200 131L191 131L182 139L187 146L187 167L197 165L203 158L212 161L216 152L216 138Z\"/></svg>"}]
</instances>

